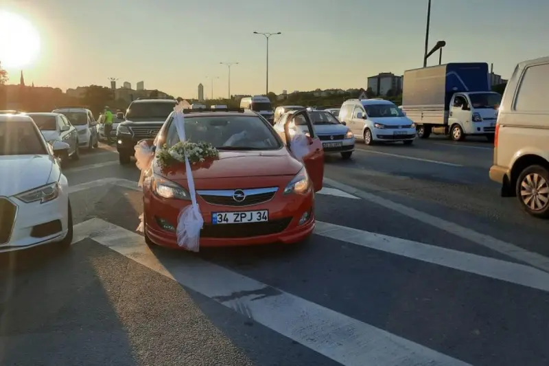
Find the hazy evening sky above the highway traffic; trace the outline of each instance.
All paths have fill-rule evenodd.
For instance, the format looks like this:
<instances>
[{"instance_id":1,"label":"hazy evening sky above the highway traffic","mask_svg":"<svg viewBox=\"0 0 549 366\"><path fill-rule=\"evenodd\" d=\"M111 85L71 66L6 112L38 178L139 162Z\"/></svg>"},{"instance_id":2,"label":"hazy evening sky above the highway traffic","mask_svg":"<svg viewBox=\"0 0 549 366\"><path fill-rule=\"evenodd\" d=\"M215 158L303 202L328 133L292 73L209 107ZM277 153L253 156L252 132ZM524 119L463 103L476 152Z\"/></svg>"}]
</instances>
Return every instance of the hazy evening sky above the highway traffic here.
<instances>
[{"instance_id":1,"label":"hazy evening sky above the highway traffic","mask_svg":"<svg viewBox=\"0 0 549 366\"><path fill-rule=\"evenodd\" d=\"M0 0L0 11L30 21L40 54L23 69L27 84L63 90L141 80L196 98L269 91L366 87L379 72L423 65L428 0ZM433 0L430 47L444 62L493 62L509 78L517 62L549 56L547 0ZM1 35L0 35L1 36ZM1 61L1 60L0 60ZM428 65L439 62L433 55ZM19 69L8 69L9 83ZM208 77L208 78L207 78ZM217 79L218 78L218 79Z\"/></svg>"}]
</instances>

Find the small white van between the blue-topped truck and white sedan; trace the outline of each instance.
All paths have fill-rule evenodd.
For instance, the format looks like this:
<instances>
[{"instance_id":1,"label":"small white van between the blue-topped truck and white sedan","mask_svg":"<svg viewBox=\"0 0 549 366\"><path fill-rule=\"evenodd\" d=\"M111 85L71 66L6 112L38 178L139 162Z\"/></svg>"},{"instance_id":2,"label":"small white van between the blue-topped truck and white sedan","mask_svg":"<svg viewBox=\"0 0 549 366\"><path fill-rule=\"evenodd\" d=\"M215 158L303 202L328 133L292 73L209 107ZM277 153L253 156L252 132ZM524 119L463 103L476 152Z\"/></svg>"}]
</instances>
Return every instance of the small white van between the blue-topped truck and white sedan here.
<instances>
[{"instance_id":1,"label":"small white van between the blue-topped truck and white sedan","mask_svg":"<svg viewBox=\"0 0 549 366\"><path fill-rule=\"evenodd\" d=\"M366 145L396 141L412 145L416 138L414 122L388 100L346 100L341 106L339 120Z\"/></svg>"}]
</instances>

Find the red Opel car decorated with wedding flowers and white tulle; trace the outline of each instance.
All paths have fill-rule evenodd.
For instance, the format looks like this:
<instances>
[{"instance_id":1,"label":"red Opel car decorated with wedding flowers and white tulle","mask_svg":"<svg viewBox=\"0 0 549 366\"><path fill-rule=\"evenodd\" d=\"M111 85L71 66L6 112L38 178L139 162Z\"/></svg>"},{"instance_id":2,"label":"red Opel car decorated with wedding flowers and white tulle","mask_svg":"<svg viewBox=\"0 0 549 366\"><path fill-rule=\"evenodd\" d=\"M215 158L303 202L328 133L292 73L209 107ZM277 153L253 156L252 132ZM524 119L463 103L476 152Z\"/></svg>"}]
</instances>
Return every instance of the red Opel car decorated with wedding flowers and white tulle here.
<instances>
[{"instance_id":1,"label":"red Opel car decorated with wedding flowers and white tulle","mask_svg":"<svg viewBox=\"0 0 549 366\"><path fill-rule=\"evenodd\" d=\"M288 128L277 135L252 111L185 111L189 141L207 141L219 158L193 170L196 197L204 226L201 247L228 247L305 240L314 229L314 192L323 187L324 152L306 110L293 118L307 121L309 151L303 163L290 146ZM179 141L173 113L156 137L156 148ZM293 119L288 120L290 124ZM246 139L225 141L246 131ZM151 141L152 144L152 141ZM156 159L145 173L143 224L148 244L180 248L176 225L180 210L190 205L187 177L182 168L167 171Z\"/></svg>"}]
</instances>

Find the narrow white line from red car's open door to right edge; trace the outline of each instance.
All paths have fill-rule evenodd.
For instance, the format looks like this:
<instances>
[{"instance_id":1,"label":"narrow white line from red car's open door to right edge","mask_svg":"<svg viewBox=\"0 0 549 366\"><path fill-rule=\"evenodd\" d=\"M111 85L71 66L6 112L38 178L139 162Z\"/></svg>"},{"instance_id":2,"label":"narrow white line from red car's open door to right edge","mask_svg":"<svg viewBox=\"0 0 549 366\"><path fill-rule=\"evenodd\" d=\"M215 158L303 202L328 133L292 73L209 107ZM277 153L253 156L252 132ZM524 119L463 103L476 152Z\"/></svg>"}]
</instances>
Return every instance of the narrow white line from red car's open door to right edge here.
<instances>
[{"instance_id":1,"label":"narrow white line from red car's open door to right edge","mask_svg":"<svg viewBox=\"0 0 549 366\"><path fill-rule=\"evenodd\" d=\"M542 271L549 272L549 258L545 257L544 255L527 251L526 249L517 247L515 244L511 244L509 242L504 242L503 240L487 236L486 234L479 233L478 231L463 227L454 222L432 216L412 207L390 201L386 198L376 196L375 194L371 194L363 190L358 190L355 187L351 187L350 185L334 181L333 179L324 177L324 181L332 187L336 187L344 192L353 194L354 196L358 196L366 201L370 201L382 207L397 211L399 214L408 216L410 218L413 218L414 220L418 220L432 227L436 227L436 229L446 231L447 233L452 233L459 238L469 240L470 242L479 244L482 247L487 247L489 249L492 249L493 251L497 251L498 253L507 255L510 258L514 258L515 260L519 260L521 262L529 264L530 266L539 268ZM382 190L382 188L379 187L379 190Z\"/></svg>"}]
</instances>

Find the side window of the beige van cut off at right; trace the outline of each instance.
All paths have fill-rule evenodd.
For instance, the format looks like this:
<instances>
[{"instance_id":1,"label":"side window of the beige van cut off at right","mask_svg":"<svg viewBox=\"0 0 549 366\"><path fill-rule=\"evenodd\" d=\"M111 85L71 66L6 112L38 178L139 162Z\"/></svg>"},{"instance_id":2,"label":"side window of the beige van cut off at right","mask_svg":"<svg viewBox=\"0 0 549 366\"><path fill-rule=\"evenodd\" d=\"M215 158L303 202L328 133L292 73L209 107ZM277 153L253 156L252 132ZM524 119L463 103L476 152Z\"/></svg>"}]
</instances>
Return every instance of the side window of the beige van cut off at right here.
<instances>
[{"instance_id":1,"label":"side window of the beige van cut off at right","mask_svg":"<svg viewBox=\"0 0 549 366\"><path fill-rule=\"evenodd\" d=\"M515 99L515 111L549 112L545 90L547 85L549 85L549 64L528 67L520 82Z\"/></svg>"}]
</instances>

